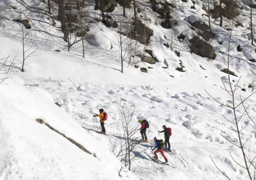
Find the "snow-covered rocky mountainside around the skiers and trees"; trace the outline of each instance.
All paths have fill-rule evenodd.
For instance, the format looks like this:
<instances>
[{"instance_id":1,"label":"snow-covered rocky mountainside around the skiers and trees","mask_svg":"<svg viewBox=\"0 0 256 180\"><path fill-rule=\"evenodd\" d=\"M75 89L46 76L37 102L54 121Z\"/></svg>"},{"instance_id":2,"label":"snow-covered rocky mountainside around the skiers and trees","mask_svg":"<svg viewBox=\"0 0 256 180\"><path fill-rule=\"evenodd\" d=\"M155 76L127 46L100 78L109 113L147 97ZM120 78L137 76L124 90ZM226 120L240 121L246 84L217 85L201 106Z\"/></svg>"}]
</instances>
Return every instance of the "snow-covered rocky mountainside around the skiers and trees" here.
<instances>
[{"instance_id":1,"label":"snow-covered rocky mountainside around the skiers and trees","mask_svg":"<svg viewBox=\"0 0 256 180\"><path fill-rule=\"evenodd\" d=\"M123 8L115 5L115 10L108 15L111 22L122 28L108 28L99 20L101 11L94 9L94 0L88 0L84 10L91 21L84 38L83 58L81 41L67 50L57 20L56 2L51 1L52 15L47 14L47 1L0 2L1 63L7 57L8 63L14 59L11 66L5 67L10 67L8 77L12 78L0 84L1 180L227 179L211 157L232 180L249 180L246 170L236 164L244 166L241 149L234 145L239 143L235 126L222 116L234 120L234 112L227 107L232 106L232 96L220 87L223 87L222 81L229 86L228 74L223 71L228 66L232 20L224 17L223 27L220 27L219 18L213 19L214 12L211 13L211 29L206 28L203 33L211 32L204 36L195 28L199 27L198 22L208 23L207 13L202 9L206 1L138 0L139 23L145 25L142 27L145 34L150 32L148 43L143 44L141 40L133 38L130 41L124 36L134 20L133 3L130 9L126 8L126 18L122 16ZM248 86L255 84L255 76L250 69L256 71L253 62L256 50L251 45L248 23L249 2L240 3L243 9L238 8L233 24L240 22L242 26L233 25L230 41L229 68L235 73L235 76L230 75L230 81L232 87L237 85L238 88L235 104L240 104L240 96L246 99L251 95L252 88ZM214 10L216 5L217 2L211 3L210 8ZM163 7L172 7L172 20L161 14ZM255 12L253 9L254 23ZM29 49L27 54L32 54L25 60L25 71L21 72L22 25L16 21L24 19L31 25L30 29L25 29L25 36L29 35L25 48ZM199 28L202 27L204 25ZM207 47L210 44L212 48L201 52L207 57L195 54L197 50L190 52L188 45L195 34L201 34L201 40L208 39L209 43L202 41L202 44ZM125 60L123 73L120 37L125 43L136 44L135 62L131 64ZM2 71L6 72L0 68ZM5 74L0 75L1 80ZM205 90L223 105L214 101ZM131 119L137 129L138 119L146 118L150 124L149 143L136 143L136 150L132 152L136 160L131 171L117 157L118 146L113 150L113 143L124 138L120 134L119 109L123 102L135 107ZM247 112L255 119L255 95L244 105L250 105ZM99 120L93 118L100 108L108 113L107 135L95 132L101 130ZM243 106L236 110L239 119L244 112ZM256 126L248 114L241 118L239 128L248 125L241 133L241 140L246 142L244 150L253 160ZM156 163L145 154L153 156L150 147L154 146L155 136L164 138L158 133L162 125L172 128L170 143L174 154L165 153L171 166ZM139 131L134 138L141 139ZM253 165L250 168L253 172Z\"/></svg>"}]
</instances>

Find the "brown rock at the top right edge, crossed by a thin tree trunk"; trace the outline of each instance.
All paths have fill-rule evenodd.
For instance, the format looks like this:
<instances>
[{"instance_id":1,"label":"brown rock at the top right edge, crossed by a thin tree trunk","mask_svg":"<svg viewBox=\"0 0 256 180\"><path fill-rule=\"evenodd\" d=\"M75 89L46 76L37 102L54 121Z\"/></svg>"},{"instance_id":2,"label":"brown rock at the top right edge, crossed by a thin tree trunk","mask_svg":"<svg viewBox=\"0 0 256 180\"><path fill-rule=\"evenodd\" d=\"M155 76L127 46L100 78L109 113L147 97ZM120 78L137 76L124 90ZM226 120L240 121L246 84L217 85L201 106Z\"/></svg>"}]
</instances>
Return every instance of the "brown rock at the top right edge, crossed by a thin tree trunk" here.
<instances>
[{"instance_id":1,"label":"brown rock at the top right edge, crossed by a thin tree trunk","mask_svg":"<svg viewBox=\"0 0 256 180\"><path fill-rule=\"evenodd\" d=\"M210 10L212 18L219 18L219 4L214 5L214 9ZM239 15L239 6L233 0L222 0L222 15L225 18L233 19Z\"/></svg>"}]
</instances>

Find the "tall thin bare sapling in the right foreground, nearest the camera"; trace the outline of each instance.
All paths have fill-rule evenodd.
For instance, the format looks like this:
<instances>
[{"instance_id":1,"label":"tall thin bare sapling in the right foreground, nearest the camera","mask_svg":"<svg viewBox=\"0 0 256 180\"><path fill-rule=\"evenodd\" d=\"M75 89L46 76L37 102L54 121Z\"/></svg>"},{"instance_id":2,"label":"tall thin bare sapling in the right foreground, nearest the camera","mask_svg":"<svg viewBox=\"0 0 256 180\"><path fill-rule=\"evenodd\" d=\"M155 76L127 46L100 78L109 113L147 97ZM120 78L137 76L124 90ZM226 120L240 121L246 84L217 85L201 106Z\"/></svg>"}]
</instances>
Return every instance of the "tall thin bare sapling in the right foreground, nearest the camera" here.
<instances>
[{"instance_id":1,"label":"tall thin bare sapling in the right foreground, nearest the camera","mask_svg":"<svg viewBox=\"0 0 256 180\"><path fill-rule=\"evenodd\" d=\"M241 150L241 155L243 157L243 164L241 163L238 163L233 157L232 157L232 154L230 153L230 157L232 158L232 160L237 164L239 165L240 167L242 167L244 170L246 170L247 172L247 175L249 177L250 180L255 180L255 177L253 177L253 172L255 172L255 169L256 169L256 166L254 165L254 163L256 163L256 156L253 158L253 159L250 159L250 156L248 156L248 154L246 153L246 149L244 148L246 143L248 142L248 140L252 137L248 137L246 138L247 140L245 142L242 141L242 135L244 134L242 131L244 131L246 129L246 127L248 127L248 125L246 126L243 126L242 128L241 125L239 124L241 118L243 117L244 114L247 114L249 119L251 120L251 122L253 122L254 125L255 122L253 121L253 119L251 119L251 117L249 116L248 114L248 107L249 106L245 106L245 101L251 97L256 91L254 91L253 93L251 93L248 97L246 97L245 99L242 99L241 96L240 96L240 102L238 104L235 104L235 92L236 90L238 89L238 83L239 83L239 80L237 82L237 84L235 85L235 88L233 88L233 85L232 85L232 81L230 80L230 41L231 41L231 34L232 34L232 28L231 28L231 31L230 31L230 39L229 39L229 46L228 46L228 57L227 57L227 70L228 70L228 86L225 85L225 83L222 81L222 84L223 84L223 87L222 89L224 89L227 94L229 94L232 98L232 105L226 105L220 101L218 101L217 99L213 98L206 90L206 93L212 97L212 99L214 99L218 104L221 104L222 106L225 106L229 109L232 110L233 112L233 119L234 120L230 120L230 119L227 119L224 115L222 115L228 122L230 122L233 127L231 128L228 128L230 130L232 130L233 132L236 132L237 134L237 137L238 137L238 143L235 143L235 142L231 142L229 139L227 139L224 135L222 135L222 137L224 137L228 142L230 142L232 145L235 145L235 147L238 147L240 150ZM243 106L243 114L241 114L241 116L238 118L238 107L240 106ZM212 159L212 157L211 157ZM213 159L212 159L213 161ZM214 162L214 161L213 161ZM214 162L214 165L217 167L217 165L215 164ZM225 175L229 180L230 178L228 177L228 175L226 175L222 170L219 169L219 167L217 167L217 169L222 172L223 175Z\"/></svg>"}]
</instances>

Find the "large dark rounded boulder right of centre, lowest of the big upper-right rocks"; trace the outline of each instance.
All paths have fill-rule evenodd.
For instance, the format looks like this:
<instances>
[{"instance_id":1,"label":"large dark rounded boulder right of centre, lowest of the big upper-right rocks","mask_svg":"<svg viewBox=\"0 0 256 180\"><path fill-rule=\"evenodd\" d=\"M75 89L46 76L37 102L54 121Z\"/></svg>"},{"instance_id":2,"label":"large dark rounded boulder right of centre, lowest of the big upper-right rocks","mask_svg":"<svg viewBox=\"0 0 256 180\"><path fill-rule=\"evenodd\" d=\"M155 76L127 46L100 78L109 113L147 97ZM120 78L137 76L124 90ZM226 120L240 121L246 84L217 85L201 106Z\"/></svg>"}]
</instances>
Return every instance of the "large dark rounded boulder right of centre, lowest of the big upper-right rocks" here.
<instances>
[{"instance_id":1,"label":"large dark rounded boulder right of centre, lowest of the big upper-right rocks","mask_svg":"<svg viewBox=\"0 0 256 180\"><path fill-rule=\"evenodd\" d=\"M190 39L189 43L190 43L191 52L201 57L206 57L210 59L216 58L216 53L210 43L207 43L206 41L201 40L197 37Z\"/></svg>"}]
</instances>

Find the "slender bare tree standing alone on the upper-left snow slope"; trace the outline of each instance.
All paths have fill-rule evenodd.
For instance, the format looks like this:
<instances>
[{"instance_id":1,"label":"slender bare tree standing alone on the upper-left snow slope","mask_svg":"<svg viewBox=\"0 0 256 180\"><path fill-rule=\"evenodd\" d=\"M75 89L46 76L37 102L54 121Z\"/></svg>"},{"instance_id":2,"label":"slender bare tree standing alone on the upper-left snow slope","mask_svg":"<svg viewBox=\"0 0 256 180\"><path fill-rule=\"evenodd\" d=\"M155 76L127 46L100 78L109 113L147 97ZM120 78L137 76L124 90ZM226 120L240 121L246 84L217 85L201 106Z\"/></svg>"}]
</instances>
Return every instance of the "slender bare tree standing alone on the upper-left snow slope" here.
<instances>
[{"instance_id":1,"label":"slender bare tree standing alone on the upper-left snow slope","mask_svg":"<svg viewBox=\"0 0 256 180\"><path fill-rule=\"evenodd\" d=\"M34 37L31 30L27 30L23 23L21 23L21 32L22 32L22 67L21 72L24 72L24 63L27 58L31 56L37 56L38 46L35 43Z\"/></svg>"}]
</instances>

